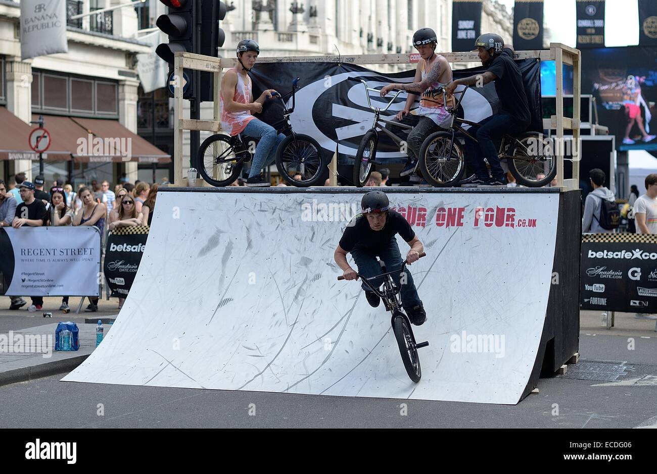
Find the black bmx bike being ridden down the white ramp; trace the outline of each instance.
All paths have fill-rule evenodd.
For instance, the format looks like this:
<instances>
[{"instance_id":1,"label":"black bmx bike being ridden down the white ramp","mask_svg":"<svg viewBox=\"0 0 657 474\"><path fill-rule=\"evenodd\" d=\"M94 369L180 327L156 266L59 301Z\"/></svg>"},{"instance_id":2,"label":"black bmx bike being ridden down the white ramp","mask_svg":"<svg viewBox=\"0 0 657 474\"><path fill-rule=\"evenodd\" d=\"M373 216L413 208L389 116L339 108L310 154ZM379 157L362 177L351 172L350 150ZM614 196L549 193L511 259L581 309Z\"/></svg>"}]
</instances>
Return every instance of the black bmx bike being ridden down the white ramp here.
<instances>
[{"instance_id":1,"label":"black bmx bike being ridden down the white ramp","mask_svg":"<svg viewBox=\"0 0 657 474\"><path fill-rule=\"evenodd\" d=\"M426 253L420 253L420 258L424 257ZM401 286L397 287L392 278L391 274L404 271L407 261L403 261L401 264L400 270L395 270L394 272L386 272L386 264L382 261L378 261L381 266L382 273L376 276L371 276L367 278L361 274L357 274L359 278L363 279L363 282L369 286L370 290L374 294L378 295L383 301L383 304L386 307L386 311L390 311L392 318L390 320L392 324L392 331L395 334L395 339L397 340L397 346L399 346L399 353L401 354L401 360L406 369L406 373L415 383L420 381L422 377L422 370L420 368L420 358L417 354L417 350L421 347L426 347L429 345L428 342L415 342L415 335L413 335L413 330L411 329L411 320L402 311L401 301L399 299L399 291L401 291ZM383 278L382 290L379 288L374 288L370 283L371 280L376 280L376 278ZM338 280L344 280L344 276L338 276Z\"/></svg>"}]
</instances>

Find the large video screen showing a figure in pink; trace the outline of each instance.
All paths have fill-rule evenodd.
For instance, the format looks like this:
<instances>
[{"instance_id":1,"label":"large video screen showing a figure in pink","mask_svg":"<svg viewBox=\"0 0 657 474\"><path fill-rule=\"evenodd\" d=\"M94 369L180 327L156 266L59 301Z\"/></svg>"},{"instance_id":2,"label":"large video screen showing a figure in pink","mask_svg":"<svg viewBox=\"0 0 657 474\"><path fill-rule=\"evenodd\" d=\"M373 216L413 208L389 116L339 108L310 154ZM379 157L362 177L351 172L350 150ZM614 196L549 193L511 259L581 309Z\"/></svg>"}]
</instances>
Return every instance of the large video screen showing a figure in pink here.
<instances>
[{"instance_id":1,"label":"large video screen showing a figure in pink","mask_svg":"<svg viewBox=\"0 0 657 474\"><path fill-rule=\"evenodd\" d=\"M583 49L581 64L581 93L595 97L616 148L657 150L657 48Z\"/></svg>"}]
</instances>

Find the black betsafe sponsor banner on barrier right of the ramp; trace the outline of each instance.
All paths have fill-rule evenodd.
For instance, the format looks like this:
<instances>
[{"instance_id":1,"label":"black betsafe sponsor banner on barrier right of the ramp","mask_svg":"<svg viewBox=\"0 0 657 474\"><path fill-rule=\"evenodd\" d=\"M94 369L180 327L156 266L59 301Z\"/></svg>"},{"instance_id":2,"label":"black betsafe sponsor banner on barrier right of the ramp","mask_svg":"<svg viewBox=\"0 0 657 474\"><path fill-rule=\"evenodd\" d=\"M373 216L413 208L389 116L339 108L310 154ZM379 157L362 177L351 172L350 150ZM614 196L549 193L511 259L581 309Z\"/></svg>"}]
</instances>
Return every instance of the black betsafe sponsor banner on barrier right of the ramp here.
<instances>
[{"instance_id":1,"label":"black betsafe sponsor banner on barrier right of the ramp","mask_svg":"<svg viewBox=\"0 0 657 474\"><path fill-rule=\"evenodd\" d=\"M585 239L580 281L581 309L657 312L657 245Z\"/></svg>"}]
</instances>

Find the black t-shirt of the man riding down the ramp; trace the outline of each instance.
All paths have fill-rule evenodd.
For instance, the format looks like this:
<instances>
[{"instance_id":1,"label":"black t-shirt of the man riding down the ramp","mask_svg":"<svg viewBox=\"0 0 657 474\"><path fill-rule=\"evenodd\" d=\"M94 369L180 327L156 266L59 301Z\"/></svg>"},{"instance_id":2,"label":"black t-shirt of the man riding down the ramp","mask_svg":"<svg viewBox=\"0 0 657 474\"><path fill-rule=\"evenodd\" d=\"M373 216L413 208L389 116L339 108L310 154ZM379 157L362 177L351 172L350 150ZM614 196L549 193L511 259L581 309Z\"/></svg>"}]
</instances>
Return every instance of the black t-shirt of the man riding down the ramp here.
<instances>
[{"instance_id":1,"label":"black t-shirt of the man riding down the ramp","mask_svg":"<svg viewBox=\"0 0 657 474\"><path fill-rule=\"evenodd\" d=\"M388 211L386 225L381 230L372 230L367 222L367 217L359 214L351 219L344 229L340 247L348 252L359 249L376 255L390 244L396 234L399 234L406 242L411 242L415 237L415 232L409 223L398 212Z\"/></svg>"}]
</instances>

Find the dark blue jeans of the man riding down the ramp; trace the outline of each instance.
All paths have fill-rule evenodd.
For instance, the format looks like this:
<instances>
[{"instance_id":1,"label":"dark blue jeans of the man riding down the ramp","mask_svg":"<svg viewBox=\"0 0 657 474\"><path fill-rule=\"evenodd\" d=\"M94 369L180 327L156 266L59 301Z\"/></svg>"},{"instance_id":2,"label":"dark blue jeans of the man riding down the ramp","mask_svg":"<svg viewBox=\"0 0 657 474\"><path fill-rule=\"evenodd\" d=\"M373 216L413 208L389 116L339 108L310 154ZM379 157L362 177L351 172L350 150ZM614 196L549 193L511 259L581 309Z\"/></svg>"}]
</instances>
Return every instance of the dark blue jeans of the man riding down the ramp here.
<instances>
[{"instance_id":1,"label":"dark blue jeans of the man riding down the ramp","mask_svg":"<svg viewBox=\"0 0 657 474\"><path fill-rule=\"evenodd\" d=\"M401 269L402 259L401 254L399 253L399 246L397 246L397 240L390 240L390 244L388 244L388 246L382 251L378 252L378 255L367 253L361 249L353 249L351 251L351 257L353 257L353 260L358 266L358 272L368 278L382 273L381 267L378 264L378 261L376 261L376 257L379 257L386 263L386 272L394 272L390 276L392 276L392 280L395 284L400 286L399 270ZM401 291L399 291L399 293L401 294L401 305L406 309L410 309L416 305L421 305L422 301L420 301L420 297L415 289L415 283L413 283L411 272L409 272L408 269L404 269L404 272L406 274L406 283L401 285ZM374 288L379 288L383 284L383 278L369 280L369 283ZM362 286L363 290L371 291L369 286L364 282Z\"/></svg>"}]
</instances>

